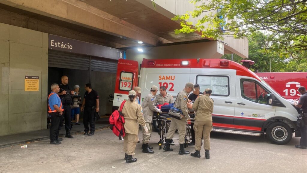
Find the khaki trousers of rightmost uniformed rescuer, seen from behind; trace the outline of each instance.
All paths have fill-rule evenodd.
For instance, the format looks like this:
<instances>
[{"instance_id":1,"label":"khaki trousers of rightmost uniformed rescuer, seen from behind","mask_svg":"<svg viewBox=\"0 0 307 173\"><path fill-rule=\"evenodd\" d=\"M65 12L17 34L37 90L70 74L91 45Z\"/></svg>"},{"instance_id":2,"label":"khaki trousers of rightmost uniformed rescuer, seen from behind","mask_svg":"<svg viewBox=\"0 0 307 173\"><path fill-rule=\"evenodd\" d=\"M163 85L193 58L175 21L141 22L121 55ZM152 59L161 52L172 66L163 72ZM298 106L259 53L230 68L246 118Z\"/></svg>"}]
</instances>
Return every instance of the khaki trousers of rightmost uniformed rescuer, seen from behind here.
<instances>
[{"instance_id":1,"label":"khaki trousers of rightmost uniformed rescuer, seen from behind","mask_svg":"<svg viewBox=\"0 0 307 173\"><path fill-rule=\"evenodd\" d=\"M204 136L204 149L210 150L210 132L212 130L212 121L196 121L194 123L195 131L195 150L201 150L201 138Z\"/></svg>"}]
</instances>

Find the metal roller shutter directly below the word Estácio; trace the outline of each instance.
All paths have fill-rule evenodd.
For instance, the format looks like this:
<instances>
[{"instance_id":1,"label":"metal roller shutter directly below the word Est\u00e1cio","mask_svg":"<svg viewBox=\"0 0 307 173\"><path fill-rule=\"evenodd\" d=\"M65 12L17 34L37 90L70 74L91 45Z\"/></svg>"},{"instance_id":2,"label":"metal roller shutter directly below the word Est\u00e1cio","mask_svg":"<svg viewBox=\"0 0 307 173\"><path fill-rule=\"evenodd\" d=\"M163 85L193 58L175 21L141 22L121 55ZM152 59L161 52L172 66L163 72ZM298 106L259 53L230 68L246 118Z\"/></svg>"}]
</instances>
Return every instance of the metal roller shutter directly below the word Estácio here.
<instances>
[{"instance_id":1,"label":"metal roller shutter directly below the word Est\u00e1cio","mask_svg":"<svg viewBox=\"0 0 307 173\"><path fill-rule=\"evenodd\" d=\"M89 57L86 55L48 50L48 66L77 70L89 69Z\"/></svg>"}]
</instances>

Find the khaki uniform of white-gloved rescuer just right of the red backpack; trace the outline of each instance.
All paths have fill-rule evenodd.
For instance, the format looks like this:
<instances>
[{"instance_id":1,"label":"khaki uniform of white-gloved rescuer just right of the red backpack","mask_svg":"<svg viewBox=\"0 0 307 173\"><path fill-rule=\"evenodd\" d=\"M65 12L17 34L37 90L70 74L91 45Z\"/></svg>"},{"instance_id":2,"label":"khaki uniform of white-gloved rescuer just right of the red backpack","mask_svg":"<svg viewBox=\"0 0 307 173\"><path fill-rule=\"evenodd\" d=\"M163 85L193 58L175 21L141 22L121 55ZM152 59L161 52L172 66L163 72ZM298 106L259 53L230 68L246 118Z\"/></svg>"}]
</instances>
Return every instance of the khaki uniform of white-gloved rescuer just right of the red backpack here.
<instances>
[{"instance_id":1,"label":"khaki uniform of white-gloved rescuer just right of the red backpack","mask_svg":"<svg viewBox=\"0 0 307 173\"><path fill-rule=\"evenodd\" d=\"M143 117L146 122L146 127L148 128L148 134L145 134L145 130L142 127L143 132L143 144L148 144L151 132L152 132L152 120L153 120L153 112L159 112L159 109L153 104L154 96L150 92L145 96L144 101L142 102L143 109Z\"/></svg>"}]
</instances>

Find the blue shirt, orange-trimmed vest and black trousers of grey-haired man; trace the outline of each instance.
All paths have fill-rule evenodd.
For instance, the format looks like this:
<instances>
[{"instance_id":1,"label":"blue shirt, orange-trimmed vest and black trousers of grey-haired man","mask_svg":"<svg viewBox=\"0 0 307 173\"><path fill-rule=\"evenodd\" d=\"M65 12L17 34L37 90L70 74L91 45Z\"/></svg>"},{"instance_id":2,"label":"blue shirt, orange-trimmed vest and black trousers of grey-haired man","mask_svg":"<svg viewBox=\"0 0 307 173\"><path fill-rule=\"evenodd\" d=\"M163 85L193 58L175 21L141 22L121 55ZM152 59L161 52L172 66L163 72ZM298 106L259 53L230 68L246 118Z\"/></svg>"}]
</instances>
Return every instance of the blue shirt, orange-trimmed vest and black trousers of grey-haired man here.
<instances>
[{"instance_id":1,"label":"blue shirt, orange-trimmed vest and black trousers of grey-haired man","mask_svg":"<svg viewBox=\"0 0 307 173\"><path fill-rule=\"evenodd\" d=\"M53 105L57 105L63 111L61 99L55 92L51 92L48 96L48 114L51 116L50 143L56 142L58 139L59 126L62 119L62 116L54 109Z\"/></svg>"}]
</instances>

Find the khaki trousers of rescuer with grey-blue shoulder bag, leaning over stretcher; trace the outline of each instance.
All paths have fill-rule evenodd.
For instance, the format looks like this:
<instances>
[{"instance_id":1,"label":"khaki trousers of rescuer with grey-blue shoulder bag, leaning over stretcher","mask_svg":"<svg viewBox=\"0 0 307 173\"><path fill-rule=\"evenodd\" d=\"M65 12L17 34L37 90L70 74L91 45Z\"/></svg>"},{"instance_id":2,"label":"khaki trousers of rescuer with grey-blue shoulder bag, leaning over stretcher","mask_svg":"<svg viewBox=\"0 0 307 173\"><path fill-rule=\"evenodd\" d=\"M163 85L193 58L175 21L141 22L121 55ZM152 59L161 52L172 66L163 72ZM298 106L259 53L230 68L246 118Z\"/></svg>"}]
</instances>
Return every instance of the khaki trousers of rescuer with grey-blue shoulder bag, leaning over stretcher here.
<instances>
[{"instance_id":1,"label":"khaki trousers of rescuer with grey-blue shoulder bag, leaning over stretcher","mask_svg":"<svg viewBox=\"0 0 307 173\"><path fill-rule=\"evenodd\" d=\"M179 143L185 143L185 131L186 131L186 121L182 121L176 118L171 119L171 127L169 127L169 131L166 134L166 139L173 139L174 133L176 129L178 129L179 133Z\"/></svg>"}]
</instances>

